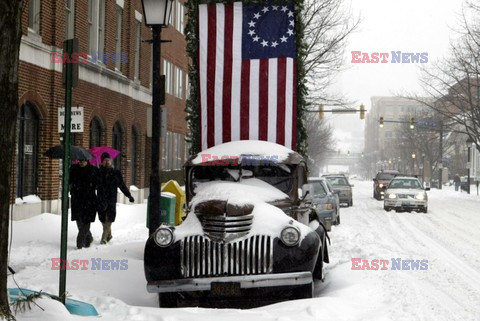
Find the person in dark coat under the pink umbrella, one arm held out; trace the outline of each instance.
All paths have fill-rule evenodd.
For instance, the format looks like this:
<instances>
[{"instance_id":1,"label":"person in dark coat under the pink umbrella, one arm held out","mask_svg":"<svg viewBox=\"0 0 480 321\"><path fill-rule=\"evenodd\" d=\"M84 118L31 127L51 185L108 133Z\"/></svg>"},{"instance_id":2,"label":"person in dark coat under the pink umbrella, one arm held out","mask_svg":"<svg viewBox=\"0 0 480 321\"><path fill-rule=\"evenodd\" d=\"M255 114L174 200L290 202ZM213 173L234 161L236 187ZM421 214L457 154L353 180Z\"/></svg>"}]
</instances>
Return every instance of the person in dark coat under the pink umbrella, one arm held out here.
<instances>
[{"instance_id":1,"label":"person in dark coat under the pink umbrella, one arm held out","mask_svg":"<svg viewBox=\"0 0 480 321\"><path fill-rule=\"evenodd\" d=\"M107 244L112 239L112 223L115 222L115 216L117 215L117 188L120 188L130 202L135 202L135 199L123 181L122 172L112 167L110 155L103 153L101 160L97 192L99 201L98 217L103 225L100 243Z\"/></svg>"}]
</instances>

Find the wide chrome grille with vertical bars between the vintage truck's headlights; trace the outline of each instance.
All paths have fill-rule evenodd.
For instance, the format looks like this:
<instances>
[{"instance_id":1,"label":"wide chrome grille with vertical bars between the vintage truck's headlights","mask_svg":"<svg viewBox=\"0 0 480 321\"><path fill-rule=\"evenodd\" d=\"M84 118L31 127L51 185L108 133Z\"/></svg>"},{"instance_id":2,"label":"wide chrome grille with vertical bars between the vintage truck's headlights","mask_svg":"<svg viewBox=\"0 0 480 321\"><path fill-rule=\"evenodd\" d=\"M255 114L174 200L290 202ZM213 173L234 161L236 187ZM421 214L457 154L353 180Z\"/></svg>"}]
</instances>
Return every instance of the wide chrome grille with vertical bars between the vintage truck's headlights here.
<instances>
[{"instance_id":1,"label":"wide chrome grille with vertical bars between the vintage truck's headlights","mask_svg":"<svg viewBox=\"0 0 480 321\"><path fill-rule=\"evenodd\" d=\"M184 277L265 274L273 269L270 236L220 243L197 235L185 238L180 247Z\"/></svg>"}]
</instances>

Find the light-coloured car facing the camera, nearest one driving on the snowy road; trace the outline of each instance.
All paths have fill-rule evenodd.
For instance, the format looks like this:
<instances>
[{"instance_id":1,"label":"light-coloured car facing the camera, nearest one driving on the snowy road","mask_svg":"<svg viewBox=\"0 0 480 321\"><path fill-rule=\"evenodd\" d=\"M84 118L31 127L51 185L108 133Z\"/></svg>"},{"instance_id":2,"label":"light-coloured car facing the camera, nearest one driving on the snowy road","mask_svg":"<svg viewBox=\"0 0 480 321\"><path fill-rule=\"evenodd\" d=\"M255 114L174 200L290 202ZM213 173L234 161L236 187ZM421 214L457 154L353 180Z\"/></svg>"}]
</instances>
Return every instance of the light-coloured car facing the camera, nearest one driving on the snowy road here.
<instances>
[{"instance_id":1,"label":"light-coloured car facing the camera, nearest one driving on the snowy road","mask_svg":"<svg viewBox=\"0 0 480 321\"><path fill-rule=\"evenodd\" d=\"M396 176L385 191L383 208L385 211L416 211L427 213L428 196L422 183L416 177Z\"/></svg>"}]
</instances>

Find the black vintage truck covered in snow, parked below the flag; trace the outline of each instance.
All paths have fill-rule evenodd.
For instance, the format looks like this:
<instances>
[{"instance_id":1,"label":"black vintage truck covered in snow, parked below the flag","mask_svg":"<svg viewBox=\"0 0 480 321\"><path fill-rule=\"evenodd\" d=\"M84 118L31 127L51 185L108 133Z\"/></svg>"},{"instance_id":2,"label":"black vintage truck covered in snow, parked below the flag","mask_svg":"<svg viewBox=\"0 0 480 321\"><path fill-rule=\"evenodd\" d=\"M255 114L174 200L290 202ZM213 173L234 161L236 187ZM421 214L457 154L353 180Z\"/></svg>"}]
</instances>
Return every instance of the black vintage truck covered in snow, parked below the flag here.
<instances>
[{"instance_id":1,"label":"black vintage truck covered in snow, parked below the flag","mask_svg":"<svg viewBox=\"0 0 480 321\"><path fill-rule=\"evenodd\" d=\"M185 170L187 217L161 225L145 246L147 290L160 307L312 297L328 250L304 158L274 143L236 141L204 150Z\"/></svg>"}]
</instances>

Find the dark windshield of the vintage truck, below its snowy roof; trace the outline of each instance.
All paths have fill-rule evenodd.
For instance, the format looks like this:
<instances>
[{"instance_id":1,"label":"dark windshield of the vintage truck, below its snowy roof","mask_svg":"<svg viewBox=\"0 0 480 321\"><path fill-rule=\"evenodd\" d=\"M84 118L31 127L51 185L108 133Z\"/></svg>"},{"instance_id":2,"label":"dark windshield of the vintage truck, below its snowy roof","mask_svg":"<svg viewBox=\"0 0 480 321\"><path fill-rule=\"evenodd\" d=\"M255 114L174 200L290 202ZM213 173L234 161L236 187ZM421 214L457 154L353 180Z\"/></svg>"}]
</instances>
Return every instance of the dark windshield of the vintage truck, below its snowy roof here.
<instances>
[{"instance_id":1,"label":"dark windshield of the vintage truck, below its snowy roof","mask_svg":"<svg viewBox=\"0 0 480 321\"><path fill-rule=\"evenodd\" d=\"M240 179L240 171L249 173L249 176L242 174L242 180L255 177L286 194L292 190L293 171L289 166L196 166L192 171L191 183L216 180L235 182Z\"/></svg>"}]
</instances>

